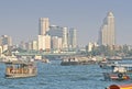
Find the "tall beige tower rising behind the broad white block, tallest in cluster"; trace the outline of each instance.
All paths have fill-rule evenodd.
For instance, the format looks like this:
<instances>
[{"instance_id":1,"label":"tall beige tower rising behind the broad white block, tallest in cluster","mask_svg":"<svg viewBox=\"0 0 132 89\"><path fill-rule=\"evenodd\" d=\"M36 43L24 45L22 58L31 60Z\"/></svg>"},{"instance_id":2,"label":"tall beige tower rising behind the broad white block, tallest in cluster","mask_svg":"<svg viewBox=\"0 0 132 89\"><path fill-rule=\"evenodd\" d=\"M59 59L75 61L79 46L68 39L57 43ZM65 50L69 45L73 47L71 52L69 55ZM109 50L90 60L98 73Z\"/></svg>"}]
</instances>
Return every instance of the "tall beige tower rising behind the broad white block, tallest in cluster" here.
<instances>
[{"instance_id":1,"label":"tall beige tower rising behind the broad white block, tallest in cluster","mask_svg":"<svg viewBox=\"0 0 132 89\"><path fill-rule=\"evenodd\" d=\"M40 19L40 32L38 35L45 35L46 32L50 30L50 21L48 18L41 18Z\"/></svg>"}]
</instances>

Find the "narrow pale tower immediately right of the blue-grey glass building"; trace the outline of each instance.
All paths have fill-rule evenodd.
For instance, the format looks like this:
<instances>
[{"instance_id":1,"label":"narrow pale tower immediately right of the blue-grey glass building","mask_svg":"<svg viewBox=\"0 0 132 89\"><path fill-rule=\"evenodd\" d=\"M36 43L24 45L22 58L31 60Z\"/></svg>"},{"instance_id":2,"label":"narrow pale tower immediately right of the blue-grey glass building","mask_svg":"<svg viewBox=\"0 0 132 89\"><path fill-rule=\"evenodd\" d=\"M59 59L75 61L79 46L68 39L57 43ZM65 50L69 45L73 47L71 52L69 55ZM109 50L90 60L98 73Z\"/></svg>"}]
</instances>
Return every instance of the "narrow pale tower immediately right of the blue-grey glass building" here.
<instances>
[{"instance_id":1,"label":"narrow pale tower immediately right of the blue-grey glass building","mask_svg":"<svg viewBox=\"0 0 132 89\"><path fill-rule=\"evenodd\" d=\"M67 27L63 29L63 48L64 49L68 48L68 30L67 30Z\"/></svg>"}]
</instances>

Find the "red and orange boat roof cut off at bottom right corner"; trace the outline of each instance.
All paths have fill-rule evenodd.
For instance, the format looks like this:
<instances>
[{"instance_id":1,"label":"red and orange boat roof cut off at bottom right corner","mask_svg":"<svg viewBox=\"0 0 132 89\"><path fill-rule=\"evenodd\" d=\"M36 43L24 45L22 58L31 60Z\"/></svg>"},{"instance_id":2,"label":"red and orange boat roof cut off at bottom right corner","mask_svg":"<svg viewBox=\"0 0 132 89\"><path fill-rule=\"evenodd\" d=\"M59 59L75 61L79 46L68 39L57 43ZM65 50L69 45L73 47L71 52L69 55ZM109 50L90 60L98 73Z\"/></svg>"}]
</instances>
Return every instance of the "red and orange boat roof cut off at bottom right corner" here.
<instances>
[{"instance_id":1,"label":"red and orange boat roof cut off at bottom right corner","mask_svg":"<svg viewBox=\"0 0 132 89\"><path fill-rule=\"evenodd\" d=\"M132 84L127 85L111 85L108 88L105 89L132 89Z\"/></svg>"}]
</instances>

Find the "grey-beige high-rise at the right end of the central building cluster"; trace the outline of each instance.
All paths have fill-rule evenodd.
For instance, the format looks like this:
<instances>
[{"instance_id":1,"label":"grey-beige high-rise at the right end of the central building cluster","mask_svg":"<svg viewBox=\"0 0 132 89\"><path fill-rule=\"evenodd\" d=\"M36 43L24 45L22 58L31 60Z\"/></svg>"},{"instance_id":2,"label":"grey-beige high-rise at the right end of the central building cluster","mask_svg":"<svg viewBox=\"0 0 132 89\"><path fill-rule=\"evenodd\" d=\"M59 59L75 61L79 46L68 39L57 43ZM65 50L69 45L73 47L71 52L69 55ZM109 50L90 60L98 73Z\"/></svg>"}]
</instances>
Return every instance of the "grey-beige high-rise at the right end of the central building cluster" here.
<instances>
[{"instance_id":1,"label":"grey-beige high-rise at the right end of the central building cluster","mask_svg":"<svg viewBox=\"0 0 132 89\"><path fill-rule=\"evenodd\" d=\"M77 47L77 30L70 29L68 36L69 36L69 40L68 40L69 48L76 48Z\"/></svg>"}]
</instances>

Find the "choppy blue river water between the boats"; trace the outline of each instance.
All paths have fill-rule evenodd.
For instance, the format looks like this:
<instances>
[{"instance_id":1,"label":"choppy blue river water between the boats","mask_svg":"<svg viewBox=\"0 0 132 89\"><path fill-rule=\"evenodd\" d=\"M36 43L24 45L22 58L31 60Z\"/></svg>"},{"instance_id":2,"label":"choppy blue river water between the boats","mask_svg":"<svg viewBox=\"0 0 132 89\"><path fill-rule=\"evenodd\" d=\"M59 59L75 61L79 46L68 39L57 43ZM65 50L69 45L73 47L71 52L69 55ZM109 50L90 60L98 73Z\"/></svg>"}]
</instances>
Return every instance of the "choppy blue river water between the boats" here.
<instances>
[{"instance_id":1,"label":"choppy blue river water between the boats","mask_svg":"<svg viewBox=\"0 0 132 89\"><path fill-rule=\"evenodd\" d=\"M37 63L37 76L31 78L4 78L4 64L0 64L0 89L105 89L112 84L129 81L106 81L98 65L61 66L61 60L50 64Z\"/></svg>"}]
</instances>

